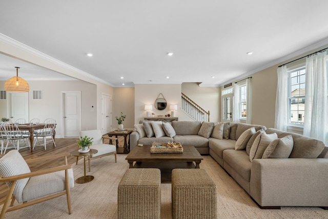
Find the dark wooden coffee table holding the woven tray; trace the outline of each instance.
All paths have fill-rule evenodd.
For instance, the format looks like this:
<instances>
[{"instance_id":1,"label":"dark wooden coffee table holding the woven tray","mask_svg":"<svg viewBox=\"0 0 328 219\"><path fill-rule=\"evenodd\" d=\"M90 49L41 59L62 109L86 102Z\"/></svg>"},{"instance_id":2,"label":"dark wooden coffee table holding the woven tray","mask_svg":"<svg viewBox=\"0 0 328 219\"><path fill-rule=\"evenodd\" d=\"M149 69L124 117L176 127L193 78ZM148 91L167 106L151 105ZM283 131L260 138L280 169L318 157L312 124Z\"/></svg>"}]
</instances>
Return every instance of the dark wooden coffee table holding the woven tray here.
<instances>
[{"instance_id":1,"label":"dark wooden coffee table holding the woven tray","mask_svg":"<svg viewBox=\"0 0 328 219\"><path fill-rule=\"evenodd\" d=\"M173 169L199 168L203 158L193 145L182 145L183 153L150 153L151 145L136 146L126 160L130 168L158 168L161 182L171 183Z\"/></svg>"}]
</instances>

